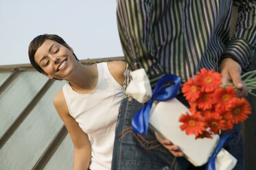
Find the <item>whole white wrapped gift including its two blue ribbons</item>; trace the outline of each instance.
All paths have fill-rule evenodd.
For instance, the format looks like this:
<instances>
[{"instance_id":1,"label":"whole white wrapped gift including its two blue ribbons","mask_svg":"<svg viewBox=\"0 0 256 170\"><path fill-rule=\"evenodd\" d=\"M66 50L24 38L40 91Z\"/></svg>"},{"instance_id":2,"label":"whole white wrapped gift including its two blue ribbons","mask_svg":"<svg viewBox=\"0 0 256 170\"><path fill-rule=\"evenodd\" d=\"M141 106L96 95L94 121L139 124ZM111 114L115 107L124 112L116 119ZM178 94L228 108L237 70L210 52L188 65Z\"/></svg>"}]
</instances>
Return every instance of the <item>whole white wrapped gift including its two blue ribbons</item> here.
<instances>
[{"instance_id":1,"label":"whole white wrapped gift including its two blue ribbons","mask_svg":"<svg viewBox=\"0 0 256 170\"><path fill-rule=\"evenodd\" d=\"M181 114L189 113L189 109L175 98L181 84L180 77L164 75L151 93L150 81L144 69L132 71L131 75L132 81L126 88L126 95L145 103L132 118L133 132L147 134L150 125L163 138L178 145L187 160L196 167L207 162L207 169L211 170L230 170L235 167L237 160L222 148L230 134L222 138L212 134L211 138L196 139L194 134L187 135L181 131L179 119ZM165 88L168 81L173 85Z\"/></svg>"}]
</instances>

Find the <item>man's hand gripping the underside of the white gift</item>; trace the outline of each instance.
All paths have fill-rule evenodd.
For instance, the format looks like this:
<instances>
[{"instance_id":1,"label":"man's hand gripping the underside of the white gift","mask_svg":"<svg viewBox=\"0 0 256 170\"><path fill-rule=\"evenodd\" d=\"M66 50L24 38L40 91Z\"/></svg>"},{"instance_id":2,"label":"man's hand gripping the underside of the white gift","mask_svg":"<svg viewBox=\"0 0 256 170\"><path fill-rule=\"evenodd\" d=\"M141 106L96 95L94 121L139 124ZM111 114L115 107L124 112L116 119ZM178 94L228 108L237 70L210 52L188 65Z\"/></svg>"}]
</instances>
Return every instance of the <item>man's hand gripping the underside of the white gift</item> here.
<instances>
[{"instance_id":1,"label":"man's hand gripping the underside of the white gift","mask_svg":"<svg viewBox=\"0 0 256 170\"><path fill-rule=\"evenodd\" d=\"M168 151L170 151L174 156L176 157L184 156L184 153L180 150L180 148L177 145L174 145L171 141L165 138L162 138L156 132L154 132L154 134L156 135L157 141L159 141L159 143L161 143L163 147L165 147Z\"/></svg>"}]
</instances>

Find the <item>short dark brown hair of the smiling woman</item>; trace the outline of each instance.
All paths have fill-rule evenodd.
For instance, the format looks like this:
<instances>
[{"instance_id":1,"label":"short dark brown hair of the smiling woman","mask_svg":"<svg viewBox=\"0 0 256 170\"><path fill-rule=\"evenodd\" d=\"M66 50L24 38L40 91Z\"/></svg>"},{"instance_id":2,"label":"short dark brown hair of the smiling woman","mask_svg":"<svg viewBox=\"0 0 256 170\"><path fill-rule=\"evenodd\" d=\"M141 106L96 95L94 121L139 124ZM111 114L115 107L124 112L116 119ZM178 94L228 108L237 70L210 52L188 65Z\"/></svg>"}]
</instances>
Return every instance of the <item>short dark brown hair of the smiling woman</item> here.
<instances>
[{"instance_id":1,"label":"short dark brown hair of the smiling woman","mask_svg":"<svg viewBox=\"0 0 256 170\"><path fill-rule=\"evenodd\" d=\"M36 38L34 38L30 42L30 46L28 47L28 56L30 57L30 63L32 64L32 66L34 66L34 68L37 71L39 71L40 73L45 73L45 71L43 71L43 69L36 63L36 61L34 60L34 55L35 55L37 49L41 45L43 45L43 42L45 42L45 40L54 40L54 41L60 43L60 45L63 45L65 47L67 47L68 49L70 49L69 45L67 45L65 40L63 40L63 38L61 38L60 36L58 36L56 34L43 34L43 35L36 36ZM73 56L75 56L75 53L73 53ZM78 60L78 58L76 56L75 56L75 59Z\"/></svg>"}]
</instances>

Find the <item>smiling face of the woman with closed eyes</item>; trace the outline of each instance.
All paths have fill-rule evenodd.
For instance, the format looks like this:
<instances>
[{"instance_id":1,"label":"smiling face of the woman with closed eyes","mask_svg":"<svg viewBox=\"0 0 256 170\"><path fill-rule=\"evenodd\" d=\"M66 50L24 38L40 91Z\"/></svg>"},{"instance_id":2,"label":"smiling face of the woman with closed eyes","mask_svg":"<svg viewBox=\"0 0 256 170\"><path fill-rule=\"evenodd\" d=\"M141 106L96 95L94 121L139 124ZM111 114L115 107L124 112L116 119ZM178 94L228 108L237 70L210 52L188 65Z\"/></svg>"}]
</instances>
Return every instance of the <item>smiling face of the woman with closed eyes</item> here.
<instances>
[{"instance_id":1,"label":"smiling face of the woman with closed eyes","mask_svg":"<svg viewBox=\"0 0 256 170\"><path fill-rule=\"evenodd\" d=\"M45 40L35 55L35 62L45 71L49 78L63 80L72 71L72 63L75 60L73 50L60 45L54 40Z\"/></svg>"}]
</instances>

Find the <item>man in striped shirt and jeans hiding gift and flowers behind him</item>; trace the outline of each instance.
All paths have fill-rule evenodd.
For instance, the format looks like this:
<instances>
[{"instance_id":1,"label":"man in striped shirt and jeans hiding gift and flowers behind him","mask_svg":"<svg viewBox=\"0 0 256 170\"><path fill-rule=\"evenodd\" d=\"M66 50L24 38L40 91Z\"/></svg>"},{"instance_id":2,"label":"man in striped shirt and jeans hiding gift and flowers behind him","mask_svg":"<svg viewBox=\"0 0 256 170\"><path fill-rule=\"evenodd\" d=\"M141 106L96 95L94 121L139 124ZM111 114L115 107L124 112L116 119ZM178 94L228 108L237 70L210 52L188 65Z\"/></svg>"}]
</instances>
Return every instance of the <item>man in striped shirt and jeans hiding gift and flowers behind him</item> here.
<instances>
[{"instance_id":1,"label":"man in striped shirt and jeans hiding gift and flowers behind him","mask_svg":"<svg viewBox=\"0 0 256 170\"><path fill-rule=\"evenodd\" d=\"M235 34L229 38L232 6L238 8ZM232 0L118 0L117 22L128 71L145 69L152 88L166 73L189 80L203 67L222 73L222 83L233 82L238 95L246 95L240 78L255 50L255 1ZM183 102L182 94L177 98ZM121 103L116 128L112 169L194 169L178 146L149 129L132 132L131 120L143 105L131 97ZM225 145L244 169L241 125L239 134ZM156 140L162 144L159 144ZM167 149L165 149L167 148ZM200 167L198 168L200 169Z\"/></svg>"}]
</instances>

